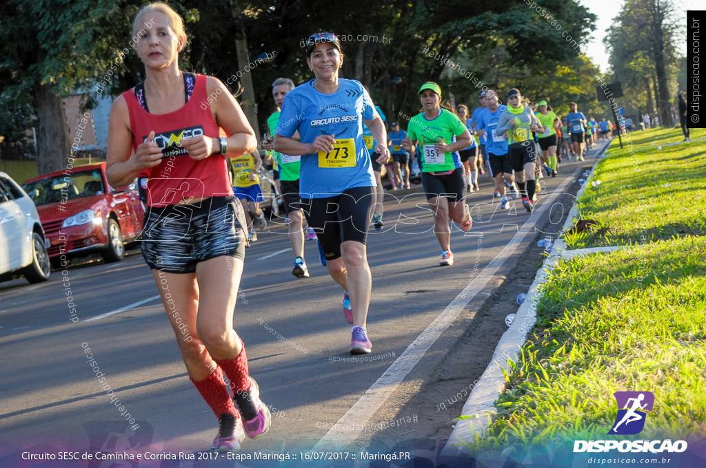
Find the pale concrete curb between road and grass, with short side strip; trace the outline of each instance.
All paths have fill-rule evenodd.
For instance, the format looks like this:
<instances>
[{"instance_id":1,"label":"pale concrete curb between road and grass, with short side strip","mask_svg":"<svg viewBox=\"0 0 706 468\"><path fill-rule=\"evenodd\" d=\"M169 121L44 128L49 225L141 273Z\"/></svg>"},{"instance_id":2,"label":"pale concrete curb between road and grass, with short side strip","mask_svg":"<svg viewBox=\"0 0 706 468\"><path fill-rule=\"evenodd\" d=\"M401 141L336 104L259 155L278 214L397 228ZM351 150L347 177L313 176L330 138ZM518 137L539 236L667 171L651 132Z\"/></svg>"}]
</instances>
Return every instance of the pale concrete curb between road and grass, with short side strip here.
<instances>
[{"instance_id":1,"label":"pale concrete curb between road and grass, with short side strip","mask_svg":"<svg viewBox=\"0 0 706 468\"><path fill-rule=\"evenodd\" d=\"M602 147L599 147L596 154L604 154L609 145L610 141L605 142ZM601 159L597 158L591 168L590 175L576 194L576 199L579 199L587 187L590 186L590 180L593 177L593 172L599 161L601 161ZM577 171L576 173L579 174L580 172ZM578 214L579 209L574 204L566 217L566 222L562 229L563 231L573 226L574 219L578 218ZM493 357L488 367L486 367L477 384L473 385L472 391L468 395L468 400L466 400L465 405L463 405L461 415L469 418L457 422L448 441L446 441L444 448L439 454L439 460L457 460L460 457L471 456L465 443L484 436L484 432L488 428L492 415L497 413L495 401L503 390L505 390L504 373L510 369L508 361L513 363L517 362L519 352L527 341L527 333L534 325L534 322L537 321L537 302L542 296L541 293L539 293L539 285L546 281L551 271L556 268L559 259L561 259L561 257L573 257L574 255L590 254L593 252L606 252L620 248L622 247L597 247L596 249L567 251L566 242L564 242L562 238L558 238L556 242L554 242L549 257L544 260L542 268L537 271L537 276L534 277L530 289L527 290L525 302L522 302L517 309L513 324L510 325L510 328L508 328L508 330L503 333L500 340L498 340L498 345L495 348L495 352L493 352Z\"/></svg>"}]
</instances>

